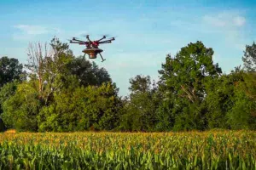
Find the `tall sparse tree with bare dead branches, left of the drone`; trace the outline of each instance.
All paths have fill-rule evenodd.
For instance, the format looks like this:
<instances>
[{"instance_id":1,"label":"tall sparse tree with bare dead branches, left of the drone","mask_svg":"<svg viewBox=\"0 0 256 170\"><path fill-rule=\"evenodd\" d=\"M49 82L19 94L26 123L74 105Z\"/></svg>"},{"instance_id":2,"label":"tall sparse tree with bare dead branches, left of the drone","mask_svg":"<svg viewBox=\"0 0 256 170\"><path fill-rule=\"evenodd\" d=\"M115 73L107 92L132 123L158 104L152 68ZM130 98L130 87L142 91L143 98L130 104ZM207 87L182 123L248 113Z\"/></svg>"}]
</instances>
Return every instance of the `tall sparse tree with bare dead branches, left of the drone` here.
<instances>
[{"instance_id":1,"label":"tall sparse tree with bare dead branches, left of the drone","mask_svg":"<svg viewBox=\"0 0 256 170\"><path fill-rule=\"evenodd\" d=\"M38 99L44 105L49 105L55 91L65 86L67 65L72 61L73 53L67 43L61 43L53 38L48 49L45 43L30 44L28 52L29 77L34 82L33 87L38 91ZM44 51L44 52L43 52Z\"/></svg>"}]
</instances>

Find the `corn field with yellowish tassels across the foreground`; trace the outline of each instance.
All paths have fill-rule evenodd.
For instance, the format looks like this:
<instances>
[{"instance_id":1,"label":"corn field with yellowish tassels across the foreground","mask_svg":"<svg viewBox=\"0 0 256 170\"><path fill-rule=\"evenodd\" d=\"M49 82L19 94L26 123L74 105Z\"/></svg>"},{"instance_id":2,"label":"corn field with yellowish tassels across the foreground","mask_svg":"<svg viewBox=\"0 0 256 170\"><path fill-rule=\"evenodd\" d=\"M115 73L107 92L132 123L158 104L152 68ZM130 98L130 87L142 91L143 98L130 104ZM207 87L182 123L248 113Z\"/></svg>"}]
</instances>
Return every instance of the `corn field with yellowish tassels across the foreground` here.
<instances>
[{"instance_id":1,"label":"corn field with yellowish tassels across the foreground","mask_svg":"<svg viewBox=\"0 0 256 170\"><path fill-rule=\"evenodd\" d=\"M256 169L256 133L0 133L0 169Z\"/></svg>"}]
</instances>

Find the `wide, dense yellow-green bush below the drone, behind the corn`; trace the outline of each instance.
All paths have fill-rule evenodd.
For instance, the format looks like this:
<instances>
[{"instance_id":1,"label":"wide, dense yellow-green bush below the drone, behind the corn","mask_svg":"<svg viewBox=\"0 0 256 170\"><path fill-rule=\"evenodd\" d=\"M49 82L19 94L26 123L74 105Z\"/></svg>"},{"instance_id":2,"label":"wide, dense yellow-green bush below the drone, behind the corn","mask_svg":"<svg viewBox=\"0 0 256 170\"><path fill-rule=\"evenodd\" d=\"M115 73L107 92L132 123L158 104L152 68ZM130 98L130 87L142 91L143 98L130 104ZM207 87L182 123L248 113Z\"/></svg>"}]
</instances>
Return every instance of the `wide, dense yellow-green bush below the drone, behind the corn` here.
<instances>
[{"instance_id":1,"label":"wide, dense yellow-green bush below the drone, behind the corn","mask_svg":"<svg viewBox=\"0 0 256 170\"><path fill-rule=\"evenodd\" d=\"M55 93L55 103L44 107L38 116L39 131L112 130L119 123L120 104L110 83L69 88Z\"/></svg>"}]
</instances>

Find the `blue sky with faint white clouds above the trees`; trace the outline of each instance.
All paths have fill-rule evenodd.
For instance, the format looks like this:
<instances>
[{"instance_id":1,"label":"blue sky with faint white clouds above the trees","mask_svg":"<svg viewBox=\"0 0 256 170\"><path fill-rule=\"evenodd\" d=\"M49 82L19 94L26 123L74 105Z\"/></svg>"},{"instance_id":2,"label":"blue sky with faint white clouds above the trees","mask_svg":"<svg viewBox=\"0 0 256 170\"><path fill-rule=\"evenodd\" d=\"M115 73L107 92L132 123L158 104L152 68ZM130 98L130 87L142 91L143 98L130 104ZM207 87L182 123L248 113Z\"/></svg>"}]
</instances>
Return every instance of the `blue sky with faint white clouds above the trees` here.
<instances>
[{"instance_id":1,"label":"blue sky with faint white clouds above the trees","mask_svg":"<svg viewBox=\"0 0 256 170\"><path fill-rule=\"evenodd\" d=\"M174 56L189 42L213 48L213 62L224 73L242 65L245 46L256 40L255 9L255 0L0 0L0 56L26 64L30 42L108 34L116 40L101 46L106 61L94 61L125 96L131 77L159 80L166 54ZM70 48L83 55L83 46Z\"/></svg>"}]
</instances>

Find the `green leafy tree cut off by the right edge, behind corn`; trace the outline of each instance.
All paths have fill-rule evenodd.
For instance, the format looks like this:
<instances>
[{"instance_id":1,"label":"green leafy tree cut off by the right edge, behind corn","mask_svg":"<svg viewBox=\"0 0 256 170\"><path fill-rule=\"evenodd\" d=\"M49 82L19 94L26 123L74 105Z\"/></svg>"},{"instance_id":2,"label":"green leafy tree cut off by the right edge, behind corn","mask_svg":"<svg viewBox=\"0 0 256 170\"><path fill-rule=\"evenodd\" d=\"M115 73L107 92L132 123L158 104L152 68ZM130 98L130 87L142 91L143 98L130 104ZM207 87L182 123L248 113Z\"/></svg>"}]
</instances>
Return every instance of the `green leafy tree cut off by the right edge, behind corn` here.
<instances>
[{"instance_id":1,"label":"green leafy tree cut off by the right edge, behind corn","mask_svg":"<svg viewBox=\"0 0 256 170\"><path fill-rule=\"evenodd\" d=\"M238 73L236 73L238 74ZM228 112L232 129L256 129L256 74L240 71L241 81L234 85L233 107Z\"/></svg>"}]
</instances>

